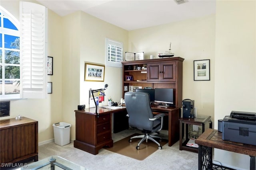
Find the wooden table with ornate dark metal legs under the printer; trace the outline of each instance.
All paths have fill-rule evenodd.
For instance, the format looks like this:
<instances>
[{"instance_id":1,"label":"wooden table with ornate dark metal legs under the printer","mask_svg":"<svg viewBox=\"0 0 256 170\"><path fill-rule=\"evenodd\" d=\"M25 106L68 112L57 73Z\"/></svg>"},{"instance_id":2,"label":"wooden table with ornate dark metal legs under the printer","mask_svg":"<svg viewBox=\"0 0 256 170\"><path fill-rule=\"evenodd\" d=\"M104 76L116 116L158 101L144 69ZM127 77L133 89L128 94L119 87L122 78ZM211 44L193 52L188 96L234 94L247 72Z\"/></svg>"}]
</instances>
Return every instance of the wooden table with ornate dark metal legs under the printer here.
<instances>
[{"instance_id":1,"label":"wooden table with ornate dark metal legs under the printer","mask_svg":"<svg viewBox=\"0 0 256 170\"><path fill-rule=\"evenodd\" d=\"M212 148L247 154L250 158L250 170L255 170L256 147L238 142L222 140L222 133L214 129L206 129L195 143L198 144L198 170L221 167L212 163ZM226 167L225 167L226 168Z\"/></svg>"}]
</instances>

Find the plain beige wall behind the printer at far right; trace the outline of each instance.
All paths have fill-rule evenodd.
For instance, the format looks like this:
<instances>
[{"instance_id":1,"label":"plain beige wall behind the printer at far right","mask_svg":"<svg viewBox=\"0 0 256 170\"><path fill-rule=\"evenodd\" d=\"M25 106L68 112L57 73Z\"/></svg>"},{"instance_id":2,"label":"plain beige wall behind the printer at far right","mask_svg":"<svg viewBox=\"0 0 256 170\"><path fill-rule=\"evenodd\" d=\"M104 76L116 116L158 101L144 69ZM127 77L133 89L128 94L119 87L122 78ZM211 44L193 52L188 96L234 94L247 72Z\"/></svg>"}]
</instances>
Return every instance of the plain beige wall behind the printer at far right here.
<instances>
[{"instance_id":1,"label":"plain beige wall behind the printer at far right","mask_svg":"<svg viewBox=\"0 0 256 170\"><path fill-rule=\"evenodd\" d=\"M232 110L256 112L255 65L256 1L217 1L215 127ZM250 168L247 155L215 149L214 160Z\"/></svg>"}]
</instances>

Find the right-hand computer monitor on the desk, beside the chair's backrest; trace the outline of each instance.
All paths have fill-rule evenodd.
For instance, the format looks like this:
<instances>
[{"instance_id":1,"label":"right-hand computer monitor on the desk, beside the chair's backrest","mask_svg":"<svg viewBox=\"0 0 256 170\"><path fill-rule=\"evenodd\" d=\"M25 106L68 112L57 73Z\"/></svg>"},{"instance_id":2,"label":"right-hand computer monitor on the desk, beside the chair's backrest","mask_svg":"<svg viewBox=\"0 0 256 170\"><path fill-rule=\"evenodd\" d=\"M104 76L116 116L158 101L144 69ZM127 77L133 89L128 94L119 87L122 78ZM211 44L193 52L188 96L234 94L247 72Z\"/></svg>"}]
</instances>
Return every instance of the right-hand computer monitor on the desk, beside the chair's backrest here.
<instances>
[{"instance_id":1,"label":"right-hand computer monitor on the desk, beside the chair's backrest","mask_svg":"<svg viewBox=\"0 0 256 170\"><path fill-rule=\"evenodd\" d=\"M155 88L155 102L159 102L160 105L165 104L165 106L174 105L174 95L172 88Z\"/></svg>"}]
</instances>

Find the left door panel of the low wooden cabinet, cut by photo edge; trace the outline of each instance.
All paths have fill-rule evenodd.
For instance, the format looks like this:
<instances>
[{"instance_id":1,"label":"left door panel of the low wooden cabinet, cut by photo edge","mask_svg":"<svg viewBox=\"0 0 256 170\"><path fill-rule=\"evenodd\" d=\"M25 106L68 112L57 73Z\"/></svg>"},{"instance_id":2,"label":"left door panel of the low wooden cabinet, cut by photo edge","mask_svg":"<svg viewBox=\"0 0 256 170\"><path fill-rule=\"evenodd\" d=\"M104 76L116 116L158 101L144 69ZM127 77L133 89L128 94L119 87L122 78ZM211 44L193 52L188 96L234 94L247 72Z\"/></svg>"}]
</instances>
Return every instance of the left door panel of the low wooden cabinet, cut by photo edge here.
<instances>
[{"instance_id":1,"label":"left door panel of the low wooden cabinet, cut by photo edge","mask_svg":"<svg viewBox=\"0 0 256 170\"><path fill-rule=\"evenodd\" d=\"M0 139L0 163L11 162L13 160L12 128L1 130Z\"/></svg>"}]
</instances>

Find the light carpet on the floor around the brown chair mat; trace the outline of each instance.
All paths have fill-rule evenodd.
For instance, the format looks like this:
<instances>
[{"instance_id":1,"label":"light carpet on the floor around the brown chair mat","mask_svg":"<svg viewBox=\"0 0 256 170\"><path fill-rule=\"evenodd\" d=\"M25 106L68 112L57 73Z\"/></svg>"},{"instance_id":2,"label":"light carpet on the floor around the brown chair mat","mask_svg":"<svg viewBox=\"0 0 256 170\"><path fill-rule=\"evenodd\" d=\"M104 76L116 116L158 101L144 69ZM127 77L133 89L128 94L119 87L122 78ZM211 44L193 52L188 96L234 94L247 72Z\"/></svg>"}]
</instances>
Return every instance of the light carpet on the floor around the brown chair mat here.
<instances>
[{"instance_id":1,"label":"light carpet on the floor around the brown chair mat","mask_svg":"<svg viewBox=\"0 0 256 170\"><path fill-rule=\"evenodd\" d=\"M114 133L112 139L116 142L134 133L140 131L131 129ZM160 136L167 139L168 133L162 131ZM162 150L156 150L142 161L106 149L100 149L99 154L93 155L74 148L74 143L59 146L52 142L38 147L39 160L52 155L61 156L86 170L198 170L198 154L179 150L179 142L172 147L164 145Z\"/></svg>"}]
</instances>

